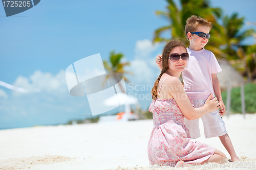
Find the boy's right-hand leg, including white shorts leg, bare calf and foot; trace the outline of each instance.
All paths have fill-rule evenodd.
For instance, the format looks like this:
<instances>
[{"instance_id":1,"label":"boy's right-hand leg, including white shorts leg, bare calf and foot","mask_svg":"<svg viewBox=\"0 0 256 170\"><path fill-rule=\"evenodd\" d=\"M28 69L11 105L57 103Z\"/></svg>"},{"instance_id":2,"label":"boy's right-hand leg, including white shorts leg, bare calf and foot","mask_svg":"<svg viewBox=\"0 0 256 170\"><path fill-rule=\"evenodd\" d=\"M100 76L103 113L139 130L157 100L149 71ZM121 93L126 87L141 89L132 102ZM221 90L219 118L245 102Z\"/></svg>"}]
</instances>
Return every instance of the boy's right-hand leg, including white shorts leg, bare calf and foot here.
<instances>
[{"instance_id":1,"label":"boy's right-hand leg, including white shorts leg, bare calf and foot","mask_svg":"<svg viewBox=\"0 0 256 170\"><path fill-rule=\"evenodd\" d=\"M204 124L204 135L205 138L218 136L224 145L225 149L231 157L231 161L239 161L232 142L227 134L225 123L219 113L219 110L208 112L202 116Z\"/></svg>"}]
</instances>

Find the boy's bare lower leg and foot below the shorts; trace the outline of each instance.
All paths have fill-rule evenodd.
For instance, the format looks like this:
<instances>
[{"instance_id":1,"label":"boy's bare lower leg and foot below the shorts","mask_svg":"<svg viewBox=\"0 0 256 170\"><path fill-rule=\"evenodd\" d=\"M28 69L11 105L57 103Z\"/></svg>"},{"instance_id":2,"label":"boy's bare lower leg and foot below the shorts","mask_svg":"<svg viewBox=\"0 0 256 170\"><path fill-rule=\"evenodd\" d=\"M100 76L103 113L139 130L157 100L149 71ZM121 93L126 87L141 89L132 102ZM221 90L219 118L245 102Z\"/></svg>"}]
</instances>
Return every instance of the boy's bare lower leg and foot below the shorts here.
<instances>
[{"instance_id":1,"label":"boy's bare lower leg and foot below the shorts","mask_svg":"<svg viewBox=\"0 0 256 170\"><path fill-rule=\"evenodd\" d=\"M219 136L219 138L222 144L224 145L224 147L226 148L227 152L229 153L231 157L231 161L232 162L239 161L240 159L238 158L236 152L234 152L233 144L228 134L226 133L225 135Z\"/></svg>"}]
</instances>

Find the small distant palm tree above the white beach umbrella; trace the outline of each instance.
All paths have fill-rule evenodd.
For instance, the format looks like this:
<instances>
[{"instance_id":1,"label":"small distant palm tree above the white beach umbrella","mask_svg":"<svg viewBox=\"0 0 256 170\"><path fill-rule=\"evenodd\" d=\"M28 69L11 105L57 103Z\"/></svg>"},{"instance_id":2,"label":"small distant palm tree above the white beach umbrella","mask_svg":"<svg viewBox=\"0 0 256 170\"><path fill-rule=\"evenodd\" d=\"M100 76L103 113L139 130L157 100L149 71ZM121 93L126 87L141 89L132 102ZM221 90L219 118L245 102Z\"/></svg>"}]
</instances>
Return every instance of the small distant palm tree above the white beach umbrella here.
<instances>
[{"instance_id":1,"label":"small distant palm tree above the white beach umbrella","mask_svg":"<svg viewBox=\"0 0 256 170\"><path fill-rule=\"evenodd\" d=\"M123 76L124 74L130 74L132 75L132 72L129 72L129 71L125 71L124 70L124 67L126 65L130 65L129 62L121 62L121 59L124 58L124 55L122 53L115 53L115 51L112 51L110 53L110 58L109 58L109 61L107 60L103 60L103 65L104 65L104 68L106 69L106 71L108 72L108 77L109 78L113 78L116 82L119 82L118 80L124 79L124 81L126 82L129 82L129 80ZM118 74L111 74L111 73L121 73L121 75ZM107 81L107 80L105 80ZM125 93L125 90L123 89L123 87L121 86L121 84L119 83L119 87L120 87L120 90Z\"/></svg>"}]
</instances>

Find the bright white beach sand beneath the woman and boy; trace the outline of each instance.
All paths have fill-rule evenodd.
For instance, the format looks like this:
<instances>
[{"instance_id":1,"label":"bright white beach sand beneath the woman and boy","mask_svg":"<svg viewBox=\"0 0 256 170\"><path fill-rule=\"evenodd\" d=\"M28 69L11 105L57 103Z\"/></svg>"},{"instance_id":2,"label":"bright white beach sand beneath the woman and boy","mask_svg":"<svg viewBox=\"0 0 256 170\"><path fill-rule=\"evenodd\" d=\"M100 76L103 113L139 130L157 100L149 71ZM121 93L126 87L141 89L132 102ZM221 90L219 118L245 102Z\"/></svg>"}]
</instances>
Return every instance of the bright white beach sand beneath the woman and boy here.
<instances>
[{"instance_id":1,"label":"bright white beach sand beneath the woman and boy","mask_svg":"<svg viewBox=\"0 0 256 170\"><path fill-rule=\"evenodd\" d=\"M242 168L231 162L218 169L248 169L248 162L256 166L256 114L223 119ZM205 139L200 126L197 140L230 158L219 138ZM151 168L147 159L152 128L153 120L137 120L0 130L0 169L163 169ZM200 169L214 169L206 165Z\"/></svg>"}]
</instances>

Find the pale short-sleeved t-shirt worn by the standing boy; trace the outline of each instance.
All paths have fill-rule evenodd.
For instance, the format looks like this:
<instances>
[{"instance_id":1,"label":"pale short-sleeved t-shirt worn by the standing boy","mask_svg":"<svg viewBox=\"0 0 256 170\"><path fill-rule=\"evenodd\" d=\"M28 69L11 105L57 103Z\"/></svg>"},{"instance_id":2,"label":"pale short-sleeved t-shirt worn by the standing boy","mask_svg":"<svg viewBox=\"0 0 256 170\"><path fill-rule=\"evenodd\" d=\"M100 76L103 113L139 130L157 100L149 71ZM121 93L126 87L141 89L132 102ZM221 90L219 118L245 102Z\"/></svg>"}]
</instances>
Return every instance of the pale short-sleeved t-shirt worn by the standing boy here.
<instances>
[{"instance_id":1,"label":"pale short-sleeved t-shirt worn by the standing boy","mask_svg":"<svg viewBox=\"0 0 256 170\"><path fill-rule=\"evenodd\" d=\"M193 100L207 99L212 93L211 74L222 71L215 55L208 50L194 51L187 48L189 59L182 72L184 89Z\"/></svg>"}]
</instances>

